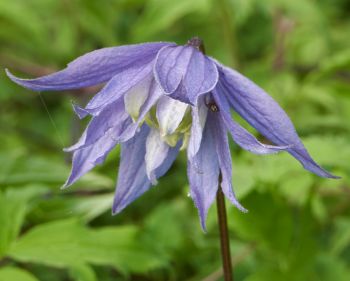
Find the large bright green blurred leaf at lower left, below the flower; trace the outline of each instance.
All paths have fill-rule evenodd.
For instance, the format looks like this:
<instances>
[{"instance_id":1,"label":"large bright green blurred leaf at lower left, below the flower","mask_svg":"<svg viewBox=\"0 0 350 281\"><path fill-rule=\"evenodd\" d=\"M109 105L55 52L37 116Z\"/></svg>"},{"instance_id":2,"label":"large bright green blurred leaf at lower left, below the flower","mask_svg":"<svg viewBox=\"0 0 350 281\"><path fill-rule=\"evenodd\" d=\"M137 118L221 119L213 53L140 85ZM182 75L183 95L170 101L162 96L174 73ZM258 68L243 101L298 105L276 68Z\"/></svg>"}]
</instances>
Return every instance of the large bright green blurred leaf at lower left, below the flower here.
<instances>
[{"instance_id":1,"label":"large bright green blurred leaf at lower left, below the flower","mask_svg":"<svg viewBox=\"0 0 350 281\"><path fill-rule=\"evenodd\" d=\"M133 226L86 228L75 219L34 227L13 245L9 255L22 262L67 268L81 263L146 272L162 265L138 242Z\"/></svg>"}]
</instances>

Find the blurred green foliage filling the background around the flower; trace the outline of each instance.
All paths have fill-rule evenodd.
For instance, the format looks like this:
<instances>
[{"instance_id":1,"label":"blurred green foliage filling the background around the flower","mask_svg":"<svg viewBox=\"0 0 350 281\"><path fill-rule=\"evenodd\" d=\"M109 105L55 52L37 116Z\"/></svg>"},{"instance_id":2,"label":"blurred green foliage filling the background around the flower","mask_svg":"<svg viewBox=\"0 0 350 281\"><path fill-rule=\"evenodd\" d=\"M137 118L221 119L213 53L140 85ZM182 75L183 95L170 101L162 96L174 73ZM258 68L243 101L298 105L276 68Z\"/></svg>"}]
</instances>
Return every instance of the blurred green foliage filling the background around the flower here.
<instances>
[{"instance_id":1,"label":"blurred green foliage filling the background around the flower","mask_svg":"<svg viewBox=\"0 0 350 281\"><path fill-rule=\"evenodd\" d=\"M222 280L215 206L204 234L185 155L112 217L118 149L60 190L62 148L85 126L71 101L94 89L39 95L3 71L36 77L97 48L193 36L266 89L315 160L342 176L232 143L234 188L250 210L228 207L235 280L350 280L349 34L348 0L0 0L0 280Z\"/></svg>"}]
</instances>

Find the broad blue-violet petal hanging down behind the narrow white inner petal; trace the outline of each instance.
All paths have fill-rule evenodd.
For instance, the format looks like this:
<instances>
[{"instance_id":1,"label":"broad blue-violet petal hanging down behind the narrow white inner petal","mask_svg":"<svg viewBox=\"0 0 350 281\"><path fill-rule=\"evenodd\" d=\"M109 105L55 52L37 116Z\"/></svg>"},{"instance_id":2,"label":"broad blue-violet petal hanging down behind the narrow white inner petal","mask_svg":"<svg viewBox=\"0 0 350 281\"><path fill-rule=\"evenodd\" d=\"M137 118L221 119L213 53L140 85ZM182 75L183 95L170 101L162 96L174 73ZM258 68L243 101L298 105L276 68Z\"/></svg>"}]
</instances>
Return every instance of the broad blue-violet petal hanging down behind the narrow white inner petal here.
<instances>
[{"instance_id":1,"label":"broad blue-violet petal hanging down behind the narrow white inner petal","mask_svg":"<svg viewBox=\"0 0 350 281\"><path fill-rule=\"evenodd\" d=\"M118 183L113 203L113 214L120 213L131 202L145 193L151 187L151 181L146 172L146 140L150 129L143 125L140 132L126 143L122 144ZM159 178L170 168L177 152L174 149L163 163L156 169L155 177Z\"/></svg>"}]
</instances>

